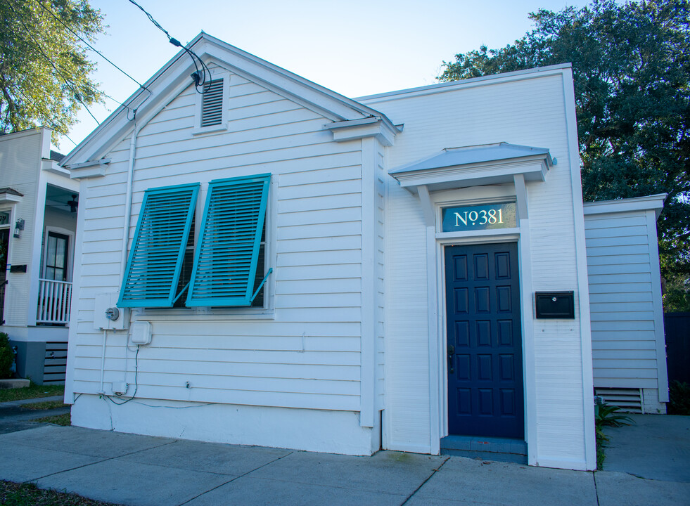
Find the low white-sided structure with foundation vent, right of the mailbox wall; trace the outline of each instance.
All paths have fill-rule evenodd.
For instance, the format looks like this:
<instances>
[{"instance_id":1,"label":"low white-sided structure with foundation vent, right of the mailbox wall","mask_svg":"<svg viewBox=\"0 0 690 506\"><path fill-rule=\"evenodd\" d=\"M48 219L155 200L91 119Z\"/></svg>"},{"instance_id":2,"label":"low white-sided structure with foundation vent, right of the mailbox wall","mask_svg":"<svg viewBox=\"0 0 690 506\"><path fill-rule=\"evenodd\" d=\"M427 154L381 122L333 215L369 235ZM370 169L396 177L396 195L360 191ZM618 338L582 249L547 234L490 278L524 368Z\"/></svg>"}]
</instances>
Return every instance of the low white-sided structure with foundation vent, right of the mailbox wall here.
<instances>
[{"instance_id":1,"label":"low white-sided structure with foundation vent, right of the mailbox wall","mask_svg":"<svg viewBox=\"0 0 690 506\"><path fill-rule=\"evenodd\" d=\"M666 195L585 202L594 389L625 410L666 413L656 220Z\"/></svg>"}]
</instances>

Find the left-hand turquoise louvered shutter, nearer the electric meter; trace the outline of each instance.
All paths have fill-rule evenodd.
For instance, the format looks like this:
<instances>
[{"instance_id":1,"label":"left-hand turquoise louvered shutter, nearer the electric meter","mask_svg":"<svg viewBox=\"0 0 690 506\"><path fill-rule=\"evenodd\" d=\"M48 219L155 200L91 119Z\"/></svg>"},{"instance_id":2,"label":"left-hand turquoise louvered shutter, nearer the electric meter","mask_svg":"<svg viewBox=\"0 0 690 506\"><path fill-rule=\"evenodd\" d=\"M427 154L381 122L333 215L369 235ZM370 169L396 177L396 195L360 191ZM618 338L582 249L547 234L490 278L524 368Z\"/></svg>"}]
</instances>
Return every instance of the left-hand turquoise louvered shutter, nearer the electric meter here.
<instances>
[{"instance_id":1,"label":"left-hand turquoise louvered shutter, nearer the electric meter","mask_svg":"<svg viewBox=\"0 0 690 506\"><path fill-rule=\"evenodd\" d=\"M146 190L117 306L172 306L198 191L198 183Z\"/></svg>"}]
</instances>

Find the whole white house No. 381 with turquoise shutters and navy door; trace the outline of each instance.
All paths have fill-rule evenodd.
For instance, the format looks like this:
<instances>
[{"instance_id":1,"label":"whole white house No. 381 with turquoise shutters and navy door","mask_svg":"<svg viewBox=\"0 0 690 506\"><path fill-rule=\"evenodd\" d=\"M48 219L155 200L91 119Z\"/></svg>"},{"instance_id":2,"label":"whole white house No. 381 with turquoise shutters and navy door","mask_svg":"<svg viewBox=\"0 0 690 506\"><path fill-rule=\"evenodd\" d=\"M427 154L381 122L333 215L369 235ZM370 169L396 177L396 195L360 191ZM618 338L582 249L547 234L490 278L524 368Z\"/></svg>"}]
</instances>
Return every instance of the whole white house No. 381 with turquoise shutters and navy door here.
<instances>
[{"instance_id":1,"label":"whole white house No. 381 with turquoise shutters and navy door","mask_svg":"<svg viewBox=\"0 0 690 506\"><path fill-rule=\"evenodd\" d=\"M570 67L355 101L189 47L62 162L72 423L594 469Z\"/></svg>"}]
</instances>

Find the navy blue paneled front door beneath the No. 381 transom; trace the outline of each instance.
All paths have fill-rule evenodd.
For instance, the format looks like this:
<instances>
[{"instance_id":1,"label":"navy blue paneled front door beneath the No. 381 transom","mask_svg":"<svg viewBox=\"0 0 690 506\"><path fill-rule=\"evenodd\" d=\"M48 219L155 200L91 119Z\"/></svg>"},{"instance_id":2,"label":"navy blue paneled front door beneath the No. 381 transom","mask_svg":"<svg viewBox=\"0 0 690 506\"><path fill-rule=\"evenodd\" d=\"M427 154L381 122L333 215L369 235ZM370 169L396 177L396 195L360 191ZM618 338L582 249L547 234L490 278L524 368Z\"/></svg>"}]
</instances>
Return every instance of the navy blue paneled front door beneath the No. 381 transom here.
<instances>
[{"instance_id":1,"label":"navy blue paneled front door beneath the No. 381 transom","mask_svg":"<svg viewBox=\"0 0 690 506\"><path fill-rule=\"evenodd\" d=\"M514 242L445 248L450 434L523 439Z\"/></svg>"}]
</instances>

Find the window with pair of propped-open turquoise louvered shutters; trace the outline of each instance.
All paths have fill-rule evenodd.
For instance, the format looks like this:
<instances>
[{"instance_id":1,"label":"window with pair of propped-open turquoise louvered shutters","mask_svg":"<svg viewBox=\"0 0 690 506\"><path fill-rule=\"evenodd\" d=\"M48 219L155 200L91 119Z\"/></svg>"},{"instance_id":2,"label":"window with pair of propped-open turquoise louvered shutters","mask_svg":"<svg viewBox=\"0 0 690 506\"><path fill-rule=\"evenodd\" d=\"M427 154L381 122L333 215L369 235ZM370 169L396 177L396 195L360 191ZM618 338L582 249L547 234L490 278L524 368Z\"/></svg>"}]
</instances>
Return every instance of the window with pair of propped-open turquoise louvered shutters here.
<instances>
[{"instance_id":1,"label":"window with pair of propped-open turquoise louvered shutters","mask_svg":"<svg viewBox=\"0 0 690 506\"><path fill-rule=\"evenodd\" d=\"M270 179L211 181L200 224L198 184L147 190L118 306L181 307L186 290L188 307L262 307Z\"/></svg>"}]
</instances>

